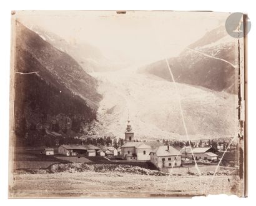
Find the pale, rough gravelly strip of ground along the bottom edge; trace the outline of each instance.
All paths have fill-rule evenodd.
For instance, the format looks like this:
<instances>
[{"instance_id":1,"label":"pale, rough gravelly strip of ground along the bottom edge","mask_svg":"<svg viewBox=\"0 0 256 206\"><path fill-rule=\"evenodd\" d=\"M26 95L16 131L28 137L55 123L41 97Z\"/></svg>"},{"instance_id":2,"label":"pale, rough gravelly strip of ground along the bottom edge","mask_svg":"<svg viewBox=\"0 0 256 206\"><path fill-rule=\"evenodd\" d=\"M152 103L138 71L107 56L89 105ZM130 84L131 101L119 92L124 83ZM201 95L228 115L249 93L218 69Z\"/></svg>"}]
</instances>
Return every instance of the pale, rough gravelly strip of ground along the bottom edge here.
<instances>
[{"instance_id":1,"label":"pale, rough gravelly strip of ground along the bottom edge","mask_svg":"<svg viewBox=\"0 0 256 206\"><path fill-rule=\"evenodd\" d=\"M16 174L10 197L172 197L238 194L239 177L149 176L122 172ZM209 190L207 190L209 187Z\"/></svg>"}]
</instances>

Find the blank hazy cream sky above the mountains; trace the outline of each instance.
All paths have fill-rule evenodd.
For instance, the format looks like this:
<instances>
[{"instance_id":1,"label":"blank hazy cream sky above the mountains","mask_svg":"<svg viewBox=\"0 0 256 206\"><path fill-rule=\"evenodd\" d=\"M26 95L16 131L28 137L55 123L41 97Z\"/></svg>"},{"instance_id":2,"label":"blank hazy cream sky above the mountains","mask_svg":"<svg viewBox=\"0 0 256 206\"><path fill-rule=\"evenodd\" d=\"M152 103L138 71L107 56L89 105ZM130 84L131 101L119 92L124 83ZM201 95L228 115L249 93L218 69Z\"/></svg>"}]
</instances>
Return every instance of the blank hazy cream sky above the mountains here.
<instances>
[{"instance_id":1,"label":"blank hazy cream sky above the mountains","mask_svg":"<svg viewBox=\"0 0 256 206\"><path fill-rule=\"evenodd\" d=\"M18 15L26 26L37 25L70 43L86 42L111 59L146 64L177 56L205 32L224 24L229 13L31 11Z\"/></svg>"}]
</instances>

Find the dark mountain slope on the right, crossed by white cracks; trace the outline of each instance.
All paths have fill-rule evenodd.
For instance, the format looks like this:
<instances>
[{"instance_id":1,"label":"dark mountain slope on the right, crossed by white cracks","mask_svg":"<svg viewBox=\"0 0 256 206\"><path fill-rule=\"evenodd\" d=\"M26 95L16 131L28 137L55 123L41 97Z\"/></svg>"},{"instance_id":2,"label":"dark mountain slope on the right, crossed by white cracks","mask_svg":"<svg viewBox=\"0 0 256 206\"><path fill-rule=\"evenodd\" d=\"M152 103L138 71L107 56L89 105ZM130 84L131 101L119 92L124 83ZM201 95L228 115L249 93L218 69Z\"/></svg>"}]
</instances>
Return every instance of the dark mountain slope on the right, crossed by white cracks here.
<instances>
[{"instance_id":1,"label":"dark mountain slope on the right, crossed by white cracks","mask_svg":"<svg viewBox=\"0 0 256 206\"><path fill-rule=\"evenodd\" d=\"M238 65L236 41L227 35L224 26L207 32L201 39L190 44L189 49L182 51L179 56L167 59L175 81L213 91L237 94L238 69L220 59L209 57L221 58L233 65ZM165 60L142 67L140 72L148 72L172 81Z\"/></svg>"}]
</instances>

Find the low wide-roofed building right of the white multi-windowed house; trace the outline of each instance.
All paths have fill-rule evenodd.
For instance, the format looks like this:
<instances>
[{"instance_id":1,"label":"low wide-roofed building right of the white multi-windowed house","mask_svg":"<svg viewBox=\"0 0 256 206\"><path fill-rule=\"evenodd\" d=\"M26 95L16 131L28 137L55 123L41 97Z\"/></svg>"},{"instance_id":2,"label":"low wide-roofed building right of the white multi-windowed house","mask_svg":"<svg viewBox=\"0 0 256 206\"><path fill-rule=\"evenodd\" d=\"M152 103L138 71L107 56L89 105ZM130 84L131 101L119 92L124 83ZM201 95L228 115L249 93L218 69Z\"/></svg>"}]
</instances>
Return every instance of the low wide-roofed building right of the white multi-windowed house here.
<instances>
[{"instance_id":1,"label":"low wide-roofed building right of the white multi-windowed house","mask_svg":"<svg viewBox=\"0 0 256 206\"><path fill-rule=\"evenodd\" d=\"M215 161L219 159L219 156L215 154L216 150L213 147L196 147L191 149L188 149L185 152L185 157L189 159L193 159L193 154L195 157L195 160L203 159L203 160L209 160L209 161Z\"/></svg>"}]
</instances>

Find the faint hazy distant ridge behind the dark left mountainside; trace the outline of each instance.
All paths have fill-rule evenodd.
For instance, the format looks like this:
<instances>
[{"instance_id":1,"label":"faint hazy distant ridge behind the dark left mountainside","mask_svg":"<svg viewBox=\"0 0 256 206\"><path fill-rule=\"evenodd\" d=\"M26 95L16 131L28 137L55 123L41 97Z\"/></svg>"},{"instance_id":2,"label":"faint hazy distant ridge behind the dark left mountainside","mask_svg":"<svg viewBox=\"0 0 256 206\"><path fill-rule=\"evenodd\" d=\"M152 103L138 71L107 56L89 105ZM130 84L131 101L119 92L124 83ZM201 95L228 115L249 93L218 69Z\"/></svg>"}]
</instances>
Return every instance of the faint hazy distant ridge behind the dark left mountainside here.
<instances>
[{"instance_id":1,"label":"faint hazy distant ridge behind the dark left mountainside","mask_svg":"<svg viewBox=\"0 0 256 206\"><path fill-rule=\"evenodd\" d=\"M52 46L73 57L86 72L113 71L119 68L118 63L113 64L113 61L105 57L97 47L91 44L67 42L57 34L39 26L30 26L30 29Z\"/></svg>"}]
</instances>

